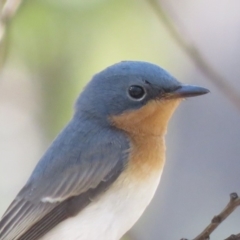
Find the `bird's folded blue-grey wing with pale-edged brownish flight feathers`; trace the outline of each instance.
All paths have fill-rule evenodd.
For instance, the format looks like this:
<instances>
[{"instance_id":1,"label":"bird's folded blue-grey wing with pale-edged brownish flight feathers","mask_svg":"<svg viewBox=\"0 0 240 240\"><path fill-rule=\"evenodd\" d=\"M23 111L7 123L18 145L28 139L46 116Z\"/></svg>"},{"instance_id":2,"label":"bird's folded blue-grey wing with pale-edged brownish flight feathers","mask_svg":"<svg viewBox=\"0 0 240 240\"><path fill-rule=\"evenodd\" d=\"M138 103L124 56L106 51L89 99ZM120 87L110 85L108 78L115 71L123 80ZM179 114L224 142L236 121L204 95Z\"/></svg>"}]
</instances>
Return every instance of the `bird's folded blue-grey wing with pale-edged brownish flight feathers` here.
<instances>
[{"instance_id":1,"label":"bird's folded blue-grey wing with pale-edged brownish flight feathers","mask_svg":"<svg viewBox=\"0 0 240 240\"><path fill-rule=\"evenodd\" d=\"M0 221L0 240L39 239L81 211L117 179L128 159L128 142L111 134L102 137L95 135L95 146L81 148L70 144L68 149L69 142L65 145L58 139L55 146L53 143ZM61 154L55 156L54 148L60 146ZM53 164L56 161L58 167ZM64 169L66 162L69 166Z\"/></svg>"}]
</instances>

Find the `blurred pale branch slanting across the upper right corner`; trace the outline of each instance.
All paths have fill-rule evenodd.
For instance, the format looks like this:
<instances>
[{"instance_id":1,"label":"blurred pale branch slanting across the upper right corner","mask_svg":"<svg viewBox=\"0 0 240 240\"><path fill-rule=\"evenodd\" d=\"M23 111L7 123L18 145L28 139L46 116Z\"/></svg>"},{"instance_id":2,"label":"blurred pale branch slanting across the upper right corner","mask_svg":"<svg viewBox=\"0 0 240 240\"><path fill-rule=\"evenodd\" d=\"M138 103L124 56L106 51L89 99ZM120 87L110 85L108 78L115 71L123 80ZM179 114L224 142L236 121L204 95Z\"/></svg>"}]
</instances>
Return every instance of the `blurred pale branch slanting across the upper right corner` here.
<instances>
[{"instance_id":1,"label":"blurred pale branch slanting across the upper right corner","mask_svg":"<svg viewBox=\"0 0 240 240\"><path fill-rule=\"evenodd\" d=\"M196 66L202 70L207 78L228 98L240 111L240 94L232 86L229 85L227 79L219 74L214 68L210 66L208 61L204 58L198 48L190 41L189 38L180 34L177 26L169 18L163 10L161 4L157 0L147 0L158 18L165 24L167 30L181 47L181 49L190 57Z\"/></svg>"}]
</instances>

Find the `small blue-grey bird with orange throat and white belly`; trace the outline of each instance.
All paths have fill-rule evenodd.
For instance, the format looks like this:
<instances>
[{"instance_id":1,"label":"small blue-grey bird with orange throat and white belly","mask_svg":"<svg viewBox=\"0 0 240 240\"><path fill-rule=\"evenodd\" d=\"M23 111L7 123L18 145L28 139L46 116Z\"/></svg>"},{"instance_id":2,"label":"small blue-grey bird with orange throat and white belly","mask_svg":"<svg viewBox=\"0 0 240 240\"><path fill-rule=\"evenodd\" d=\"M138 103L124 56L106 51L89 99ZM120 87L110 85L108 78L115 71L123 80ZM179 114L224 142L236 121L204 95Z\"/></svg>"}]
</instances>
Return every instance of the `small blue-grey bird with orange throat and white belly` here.
<instances>
[{"instance_id":1,"label":"small blue-grey bird with orange throat and white belly","mask_svg":"<svg viewBox=\"0 0 240 240\"><path fill-rule=\"evenodd\" d=\"M174 110L208 92L147 62L123 61L96 74L3 215L0 239L120 239L159 184Z\"/></svg>"}]
</instances>

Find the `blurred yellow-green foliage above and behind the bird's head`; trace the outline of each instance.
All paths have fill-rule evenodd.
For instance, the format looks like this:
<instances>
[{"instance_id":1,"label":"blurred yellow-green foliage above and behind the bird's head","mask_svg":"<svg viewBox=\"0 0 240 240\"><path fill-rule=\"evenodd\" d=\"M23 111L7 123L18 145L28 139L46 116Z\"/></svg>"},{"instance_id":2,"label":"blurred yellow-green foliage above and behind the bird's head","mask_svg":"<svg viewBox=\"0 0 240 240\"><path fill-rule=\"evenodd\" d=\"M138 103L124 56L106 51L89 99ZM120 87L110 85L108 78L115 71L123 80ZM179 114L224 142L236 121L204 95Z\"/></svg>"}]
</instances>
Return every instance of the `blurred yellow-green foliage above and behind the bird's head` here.
<instances>
[{"instance_id":1,"label":"blurred yellow-green foliage above and behind the bird's head","mask_svg":"<svg viewBox=\"0 0 240 240\"><path fill-rule=\"evenodd\" d=\"M8 56L27 66L39 84L50 138L96 71L125 59L167 61L158 25L140 1L23 2L9 28Z\"/></svg>"}]
</instances>

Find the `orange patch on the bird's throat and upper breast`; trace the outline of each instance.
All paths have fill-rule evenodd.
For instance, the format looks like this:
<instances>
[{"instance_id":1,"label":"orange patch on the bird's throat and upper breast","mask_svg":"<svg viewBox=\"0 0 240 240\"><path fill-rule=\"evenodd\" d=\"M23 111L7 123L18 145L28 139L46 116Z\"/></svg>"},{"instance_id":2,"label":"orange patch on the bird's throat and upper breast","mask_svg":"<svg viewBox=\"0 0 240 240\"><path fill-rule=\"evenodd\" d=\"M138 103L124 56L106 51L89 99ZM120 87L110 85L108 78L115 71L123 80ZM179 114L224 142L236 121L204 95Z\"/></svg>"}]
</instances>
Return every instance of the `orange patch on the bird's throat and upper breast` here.
<instances>
[{"instance_id":1,"label":"orange patch on the bird's throat and upper breast","mask_svg":"<svg viewBox=\"0 0 240 240\"><path fill-rule=\"evenodd\" d=\"M112 123L130 139L128 170L138 179L146 179L162 171L165 162L165 141L168 122L180 99L152 100L137 110L112 116Z\"/></svg>"}]
</instances>

